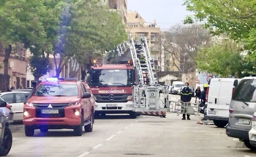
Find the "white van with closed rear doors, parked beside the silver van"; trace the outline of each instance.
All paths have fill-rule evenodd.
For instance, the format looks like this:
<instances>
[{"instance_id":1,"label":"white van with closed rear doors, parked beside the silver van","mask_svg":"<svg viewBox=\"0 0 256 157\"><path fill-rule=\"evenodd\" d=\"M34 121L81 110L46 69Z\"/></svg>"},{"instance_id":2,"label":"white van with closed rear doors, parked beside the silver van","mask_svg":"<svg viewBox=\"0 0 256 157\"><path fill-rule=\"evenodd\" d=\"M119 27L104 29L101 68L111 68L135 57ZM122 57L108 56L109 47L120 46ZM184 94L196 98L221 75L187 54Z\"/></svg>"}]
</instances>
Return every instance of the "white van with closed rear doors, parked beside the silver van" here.
<instances>
[{"instance_id":1,"label":"white van with closed rear doors, parked beside the silver van","mask_svg":"<svg viewBox=\"0 0 256 157\"><path fill-rule=\"evenodd\" d=\"M229 105L235 87L242 79L213 78L210 80L205 119L213 120L217 127L224 127L229 122Z\"/></svg>"}]
</instances>

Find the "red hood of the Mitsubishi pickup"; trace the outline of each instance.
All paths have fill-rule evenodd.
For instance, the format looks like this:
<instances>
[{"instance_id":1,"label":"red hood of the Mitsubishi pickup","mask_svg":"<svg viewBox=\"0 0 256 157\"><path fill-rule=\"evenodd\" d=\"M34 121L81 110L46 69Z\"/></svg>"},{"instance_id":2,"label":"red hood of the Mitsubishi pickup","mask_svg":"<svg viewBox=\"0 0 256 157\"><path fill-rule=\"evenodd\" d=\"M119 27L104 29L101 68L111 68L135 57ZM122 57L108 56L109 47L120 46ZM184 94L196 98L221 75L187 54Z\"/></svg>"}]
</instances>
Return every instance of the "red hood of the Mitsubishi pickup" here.
<instances>
[{"instance_id":1,"label":"red hood of the Mitsubishi pickup","mask_svg":"<svg viewBox=\"0 0 256 157\"><path fill-rule=\"evenodd\" d=\"M78 96L32 96L27 102L37 103L37 104L61 104L69 102L79 102L80 97Z\"/></svg>"}]
</instances>

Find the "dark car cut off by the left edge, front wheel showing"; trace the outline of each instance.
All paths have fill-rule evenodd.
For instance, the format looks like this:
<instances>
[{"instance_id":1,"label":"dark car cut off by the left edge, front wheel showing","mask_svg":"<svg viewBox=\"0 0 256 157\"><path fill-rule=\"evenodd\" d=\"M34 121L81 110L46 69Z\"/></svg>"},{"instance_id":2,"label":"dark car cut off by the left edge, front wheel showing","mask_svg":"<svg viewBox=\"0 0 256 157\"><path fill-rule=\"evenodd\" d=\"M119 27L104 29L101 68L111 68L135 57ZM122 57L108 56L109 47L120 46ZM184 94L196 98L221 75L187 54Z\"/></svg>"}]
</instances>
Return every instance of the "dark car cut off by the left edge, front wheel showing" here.
<instances>
[{"instance_id":1,"label":"dark car cut off by the left edge, front wheel showing","mask_svg":"<svg viewBox=\"0 0 256 157\"><path fill-rule=\"evenodd\" d=\"M7 103L0 100L0 108L6 107ZM0 156L5 156L11 150L12 135L9 129L8 119L5 112L0 109Z\"/></svg>"}]
</instances>

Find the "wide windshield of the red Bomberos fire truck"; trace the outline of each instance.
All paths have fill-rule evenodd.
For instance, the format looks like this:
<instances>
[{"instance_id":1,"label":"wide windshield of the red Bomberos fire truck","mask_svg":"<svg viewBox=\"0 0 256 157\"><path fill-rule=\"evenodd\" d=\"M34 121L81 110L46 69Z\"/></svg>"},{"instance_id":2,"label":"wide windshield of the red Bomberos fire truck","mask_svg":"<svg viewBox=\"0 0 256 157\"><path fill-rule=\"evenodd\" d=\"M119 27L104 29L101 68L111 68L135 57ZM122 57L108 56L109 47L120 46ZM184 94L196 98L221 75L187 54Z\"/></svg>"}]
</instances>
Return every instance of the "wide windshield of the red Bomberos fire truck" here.
<instances>
[{"instance_id":1,"label":"wide windshield of the red Bomberos fire truck","mask_svg":"<svg viewBox=\"0 0 256 157\"><path fill-rule=\"evenodd\" d=\"M91 86L131 86L134 83L130 69L94 69L90 78Z\"/></svg>"}]
</instances>

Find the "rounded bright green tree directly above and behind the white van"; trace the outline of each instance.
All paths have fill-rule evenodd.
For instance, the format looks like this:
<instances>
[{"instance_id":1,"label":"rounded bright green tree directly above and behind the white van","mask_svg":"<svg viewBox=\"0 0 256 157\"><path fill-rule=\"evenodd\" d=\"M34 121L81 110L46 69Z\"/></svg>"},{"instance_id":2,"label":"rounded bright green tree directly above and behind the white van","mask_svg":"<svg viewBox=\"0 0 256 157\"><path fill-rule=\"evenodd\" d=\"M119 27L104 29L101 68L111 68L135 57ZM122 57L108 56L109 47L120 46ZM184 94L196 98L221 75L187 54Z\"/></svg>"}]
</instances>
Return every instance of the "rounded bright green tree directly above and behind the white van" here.
<instances>
[{"instance_id":1,"label":"rounded bright green tree directly above and behind the white van","mask_svg":"<svg viewBox=\"0 0 256 157\"><path fill-rule=\"evenodd\" d=\"M198 51L195 57L197 68L219 77L241 77L245 65L240 49L235 41L217 37L216 41Z\"/></svg>"}]
</instances>

